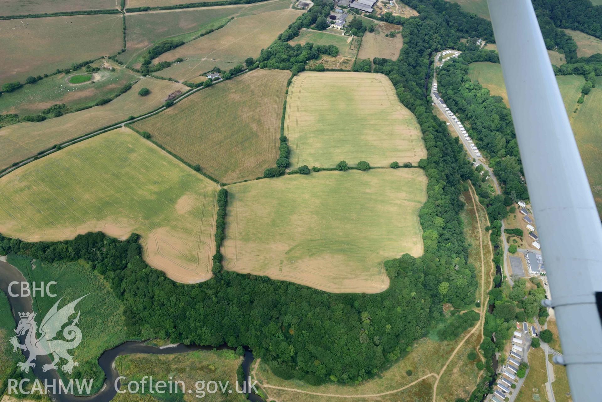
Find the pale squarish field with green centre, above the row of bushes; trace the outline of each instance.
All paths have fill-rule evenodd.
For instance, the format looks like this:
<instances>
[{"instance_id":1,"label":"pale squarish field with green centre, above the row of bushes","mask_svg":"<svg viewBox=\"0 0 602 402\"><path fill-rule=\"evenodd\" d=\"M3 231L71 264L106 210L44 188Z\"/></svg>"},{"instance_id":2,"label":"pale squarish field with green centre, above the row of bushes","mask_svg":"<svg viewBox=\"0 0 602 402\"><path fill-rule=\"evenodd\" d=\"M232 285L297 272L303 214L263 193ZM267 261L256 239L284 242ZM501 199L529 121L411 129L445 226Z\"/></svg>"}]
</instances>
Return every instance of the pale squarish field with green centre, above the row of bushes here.
<instances>
[{"instance_id":1,"label":"pale squarish field with green centre, above the row of bushes","mask_svg":"<svg viewBox=\"0 0 602 402\"><path fill-rule=\"evenodd\" d=\"M288 88L284 125L291 165L334 167L426 158L418 122L382 74L303 72Z\"/></svg>"}]
</instances>

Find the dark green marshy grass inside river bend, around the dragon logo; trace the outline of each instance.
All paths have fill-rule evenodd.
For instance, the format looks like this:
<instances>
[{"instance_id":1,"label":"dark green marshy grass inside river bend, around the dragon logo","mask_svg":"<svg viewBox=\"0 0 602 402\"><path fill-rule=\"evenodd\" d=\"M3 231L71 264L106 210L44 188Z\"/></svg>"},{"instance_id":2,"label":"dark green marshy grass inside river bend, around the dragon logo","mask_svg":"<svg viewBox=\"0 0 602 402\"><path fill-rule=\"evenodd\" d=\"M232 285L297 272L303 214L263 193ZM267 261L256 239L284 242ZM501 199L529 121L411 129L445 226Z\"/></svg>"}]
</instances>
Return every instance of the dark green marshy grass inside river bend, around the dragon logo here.
<instances>
[{"instance_id":1,"label":"dark green marshy grass inside river bend, around the dragon logo","mask_svg":"<svg viewBox=\"0 0 602 402\"><path fill-rule=\"evenodd\" d=\"M84 378L92 378L95 380L93 389L100 389L104 382L104 373L98 366L98 357L105 350L132 339L125 330L121 302L110 285L84 261L48 264L42 261L32 262L30 258L23 256L9 255L8 262L17 267L30 283L48 283L51 280L57 282L53 291L58 297L34 297L37 323L43 320L58 298L63 297L58 306L61 308L86 295L76 306L81 312L78 327L82 332L82 341L78 348L70 351L73 359L79 363L72 376L82 374ZM35 269L32 269L32 264L35 265ZM61 365L64 363L60 362Z\"/></svg>"}]
</instances>

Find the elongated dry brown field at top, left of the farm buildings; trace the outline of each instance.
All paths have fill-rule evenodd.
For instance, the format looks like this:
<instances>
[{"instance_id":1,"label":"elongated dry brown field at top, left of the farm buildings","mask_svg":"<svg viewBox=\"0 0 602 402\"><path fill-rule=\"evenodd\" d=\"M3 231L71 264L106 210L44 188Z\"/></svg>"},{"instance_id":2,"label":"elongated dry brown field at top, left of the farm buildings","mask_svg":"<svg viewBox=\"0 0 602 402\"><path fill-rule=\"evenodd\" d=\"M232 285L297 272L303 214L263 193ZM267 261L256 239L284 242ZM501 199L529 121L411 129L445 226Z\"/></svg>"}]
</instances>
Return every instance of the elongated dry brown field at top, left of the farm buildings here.
<instances>
[{"instance_id":1,"label":"elongated dry brown field at top, left of the farm buildings","mask_svg":"<svg viewBox=\"0 0 602 402\"><path fill-rule=\"evenodd\" d=\"M172 61L178 57L184 58L184 61L157 74L179 81L191 81L214 66L229 70L243 63L247 57L258 57L261 49L270 46L278 34L302 13L285 8L235 18L222 29L160 55L155 63Z\"/></svg>"}]
</instances>

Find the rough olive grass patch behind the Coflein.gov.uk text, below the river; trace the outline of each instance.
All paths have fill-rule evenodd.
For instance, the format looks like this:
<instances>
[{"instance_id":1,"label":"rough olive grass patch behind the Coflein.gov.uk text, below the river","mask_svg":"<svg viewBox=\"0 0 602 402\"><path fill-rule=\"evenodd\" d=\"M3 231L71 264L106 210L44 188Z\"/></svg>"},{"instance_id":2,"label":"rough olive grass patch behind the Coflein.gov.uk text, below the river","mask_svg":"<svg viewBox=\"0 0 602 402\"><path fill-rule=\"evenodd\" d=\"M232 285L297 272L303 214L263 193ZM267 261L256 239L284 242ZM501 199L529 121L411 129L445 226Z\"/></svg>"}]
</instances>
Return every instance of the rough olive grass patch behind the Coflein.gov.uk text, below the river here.
<instances>
[{"instance_id":1,"label":"rough olive grass patch behind the Coflein.gov.uk text, below the river","mask_svg":"<svg viewBox=\"0 0 602 402\"><path fill-rule=\"evenodd\" d=\"M117 394L113 401L116 402L131 402L131 401L197 401L202 397L203 401L244 401L244 395L237 394L236 389L236 370L242 358L237 356L232 350L216 350L216 351L193 351L189 353L178 354L129 354L127 356L119 356L115 361L115 367L121 376L125 376L126 380L122 380L122 390L127 389L124 384L130 381L140 382L144 376L152 376L153 382L160 380L168 382L182 381L185 384L185 389L191 389L192 394L183 394L179 392L167 392L163 395L155 394L153 397L149 394ZM206 393L202 395L199 391L196 392L196 383L204 381L222 382L222 386L228 383L228 388L232 390L232 394L223 395L219 390L216 394ZM241 385L242 386L242 385ZM200 388L200 385L199 385ZM240 389L240 388L239 388ZM148 390L147 390L148 391ZM206 391L206 389L204 390Z\"/></svg>"}]
</instances>

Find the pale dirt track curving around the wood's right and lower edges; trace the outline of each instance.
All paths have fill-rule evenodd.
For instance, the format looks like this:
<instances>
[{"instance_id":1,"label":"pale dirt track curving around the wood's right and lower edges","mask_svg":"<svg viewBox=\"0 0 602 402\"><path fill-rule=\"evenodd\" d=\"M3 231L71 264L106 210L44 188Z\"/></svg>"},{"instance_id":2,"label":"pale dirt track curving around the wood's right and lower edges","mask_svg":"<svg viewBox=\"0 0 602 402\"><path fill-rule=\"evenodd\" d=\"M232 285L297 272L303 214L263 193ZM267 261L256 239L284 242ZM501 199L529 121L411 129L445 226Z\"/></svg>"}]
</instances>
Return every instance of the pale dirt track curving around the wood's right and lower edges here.
<instances>
[{"instance_id":1,"label":"pale dirt track curving around the wood's right and lower edges","mask_svg":"<svg viewBox=\"0 0 602 402\"><path fill-rule=\"evenodd\" d=\"M251 376L253 378L253 380L258 381L259 385L261 386L261 388L264 389L264 391L266 391L266 389L275 389L275 390L279 390L279 391L287 391L287 392L297 392L300 394L309 394L309 395L316 395L316 396L320 396L320 397L337 397L337 398L378 398L378 397L382 397L385 395L390 395L390 394L395 394L397 392L403 391L405 389L410 388L411 386L416 385L417 383L429 378L429 377L435 377L435 385L433 385L433 397L432 397L432 401L436 402L436 395L437 395L437 387L439 384L439 380L441 379L441 377L443 376L443 374L445 373L445 371L447 370L448 366L450 365L450 363L452 362L452 360L454 359L454 357L456 356L456 354L458 353L459 350L461 350L462 346L464 345L464 343L470 339L470 337L476 332L479 331L480 332L480 336L481 336L481 340L483 337L483 326L485 324L485 309L486 306L488 305L488 303L485 300L485 282L487 282L488 279L491 279L491 269L488 270L488 274L485 273L485 244L483 244L483 228L481 226L481 220L486 220L488 222L488 218L485 215L482 215L484 213L483 211L483 207L477 206L477 203L474 201L476 195L474 193L474 188L472 187L472 185L470 185L470 196L471 196L471 203L473 205L474 208L474 215L476 217L476 221L477 221L477 227L479 228L479 248L480 248L480 259L481 259L481 286L480 286L480 295L481 295L481 307L479 308L479 313L480 313L480 319L479 322L473 327L473 329L470 330L470 332L467 333L467 335L464 336L464 338L462 339L462 341L459 342L458 346L455 348L455 350L452 352L452 354L450 354L450 357L448 357L447 361L445 362L445 365L441 368L441 370L439 371L438 374L436 373L429 373L426 374L423 377L420 377L420 379L415 380L412 383L409 383L408 385L405 385L403 387L397 388L397 389L393 389L391 391L384 391L384 392L379 392L379 393L375 393L375 394L362 394L362 395L345 395L345 394L330 394L330 393L321 393L321 392L312 392L312 391L305 391L303 389L296 389L296 388L287 388L287 387L281 387L281 386L275 386L275 385L270 385L265 381L260 381L259 377L258 377L258 366L259 366L259 362L261 359L257 359L254 366L253 366L253 370L251 373ZM479 213L479 209L482 209L482 211ZM486 239L488 239L488 237L486 237ZM493 253L493 249L491 246L491 242L487 241L488 243L488 247L489 247L489 251L491 253ZM492 269L494 267L491 267ZM491 281L489 281L491 282ZM487 287L489 289L489 286ZM483 356L481 355L480 351L477 350L477 353L479 353L479 357L480 359L483 359ZM482 371L481 371L482 373ZM479 374L479 378L480 378L480 374ZM477 379L478 382L478 379ZM279 400L277 400L276 398L270 397L269 394L267 394L267 391L265 392L267 395L267 401L273 401L273 402L281 402Z\"/></svg>"}]
</instances>

